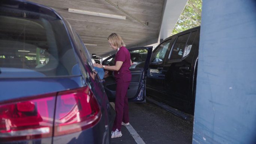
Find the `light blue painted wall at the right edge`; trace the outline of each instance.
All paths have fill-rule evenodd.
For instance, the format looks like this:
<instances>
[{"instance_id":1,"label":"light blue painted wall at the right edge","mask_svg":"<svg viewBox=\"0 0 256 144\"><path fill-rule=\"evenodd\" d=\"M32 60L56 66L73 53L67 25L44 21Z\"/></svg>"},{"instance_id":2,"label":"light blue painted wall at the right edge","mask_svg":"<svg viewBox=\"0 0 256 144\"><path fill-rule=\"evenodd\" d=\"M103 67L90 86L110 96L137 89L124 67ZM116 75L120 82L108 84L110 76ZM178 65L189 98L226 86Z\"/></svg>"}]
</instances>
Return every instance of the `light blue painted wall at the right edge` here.
<instances>
[{"instance_id":1,"label":"light blue painted wall at the right edge","mask_svg":"<svg viewBox=\"0 0 256 144\"><path fill-rule=\"evenodd\" d=\"M256 144L256 0L203 0L193 144Z\"/></svg>"}]
</instances>

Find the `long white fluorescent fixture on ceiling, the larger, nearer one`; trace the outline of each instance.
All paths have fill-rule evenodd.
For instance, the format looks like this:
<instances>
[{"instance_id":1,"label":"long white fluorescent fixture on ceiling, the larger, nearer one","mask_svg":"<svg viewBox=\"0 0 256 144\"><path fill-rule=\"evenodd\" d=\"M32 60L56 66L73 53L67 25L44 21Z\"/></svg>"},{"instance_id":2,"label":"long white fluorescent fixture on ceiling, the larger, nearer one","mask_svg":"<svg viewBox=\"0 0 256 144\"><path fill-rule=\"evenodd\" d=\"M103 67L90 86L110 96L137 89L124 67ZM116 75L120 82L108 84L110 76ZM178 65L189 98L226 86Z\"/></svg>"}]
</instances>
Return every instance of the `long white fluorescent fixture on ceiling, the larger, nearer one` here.
<instances>
[{"instance_id":1,"label":"long white fluorescent fixture on ceiling, the larger, nearer one","mask_svg":"<svg viewBox=\"0 0 256 144\"><path fill-rule=\"evenodd\" d=\"M68 12L80 13L80 14L85 14L85 15L103 16L103 17L107 17L107 18L126 19L126 16L111 15L111 14L99 13L99 12L89 12L89 11L78 10L78 9L68 9Z\"/></svg>"}]
</instances>

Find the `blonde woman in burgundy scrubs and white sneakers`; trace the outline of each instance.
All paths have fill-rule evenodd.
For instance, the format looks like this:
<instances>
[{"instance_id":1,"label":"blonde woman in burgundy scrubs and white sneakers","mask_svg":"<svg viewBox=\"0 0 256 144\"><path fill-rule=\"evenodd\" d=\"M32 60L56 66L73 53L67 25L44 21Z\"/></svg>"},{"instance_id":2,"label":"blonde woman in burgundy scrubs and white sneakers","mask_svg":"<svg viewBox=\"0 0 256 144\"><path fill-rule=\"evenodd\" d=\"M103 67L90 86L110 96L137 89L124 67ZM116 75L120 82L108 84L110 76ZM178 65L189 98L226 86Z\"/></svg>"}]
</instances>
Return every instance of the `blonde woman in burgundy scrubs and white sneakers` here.
<instances>
[{"instance_id":1,"label":"blonde woman in burgundy scrubs and white sneakers","mask_svg":"<svg viewBox=\"0 0 256 144\"><path fill-rule=\"evenodd\" d=\"M116 118L112 128L111 138L116 138L122 136L121 126L129 125L127 90L131 82L131 72L129 67L132 65L132 61L128 49L125 48L124 41L118 34L112 33L107 39L109 41L110 47L114 50L117 50L115 65L109 66L94 64L94 66L99 68L103 67L106 70L114 71L117 84L115 101Z\"/></svg>"}]
</instances>

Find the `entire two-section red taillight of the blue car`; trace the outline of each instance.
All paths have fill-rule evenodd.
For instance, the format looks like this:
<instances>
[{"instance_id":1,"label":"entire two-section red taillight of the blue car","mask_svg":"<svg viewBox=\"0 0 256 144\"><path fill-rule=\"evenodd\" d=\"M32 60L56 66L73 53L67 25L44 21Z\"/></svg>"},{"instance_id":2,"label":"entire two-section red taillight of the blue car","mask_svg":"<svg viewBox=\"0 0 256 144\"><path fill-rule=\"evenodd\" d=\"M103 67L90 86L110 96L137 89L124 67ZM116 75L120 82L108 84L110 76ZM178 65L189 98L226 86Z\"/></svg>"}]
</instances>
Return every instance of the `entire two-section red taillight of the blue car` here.
<instances>
[{"instance_id":1,"label":"entire two-section red taillight of the blue car","mask_svg":"<svg viewBox=\"0 0 256 144\"><path fill-rule=\"evenodd\" d=\"M100 107L88 87L56 95L0 104L0 141L68 134L90 128L100 120Z\"/></svg>"}]
</instances>

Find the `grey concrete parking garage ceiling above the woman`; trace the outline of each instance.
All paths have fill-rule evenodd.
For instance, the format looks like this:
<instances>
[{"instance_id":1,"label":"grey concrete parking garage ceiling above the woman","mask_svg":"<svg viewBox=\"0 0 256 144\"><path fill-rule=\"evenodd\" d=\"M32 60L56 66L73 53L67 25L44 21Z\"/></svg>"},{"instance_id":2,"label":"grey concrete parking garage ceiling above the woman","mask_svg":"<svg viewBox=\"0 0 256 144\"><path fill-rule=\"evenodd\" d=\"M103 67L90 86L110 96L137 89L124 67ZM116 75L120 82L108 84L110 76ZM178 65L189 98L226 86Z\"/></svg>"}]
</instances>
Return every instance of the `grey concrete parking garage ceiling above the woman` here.
<instances>
[{"instance_id":1,"label":"grey concrete parking garage ceiling above the woman","mask_svg":"<svg viewBox=\"0 0 256 144\"><path fill-rule=\"evenodd\" d=\"M164 13L170 12L167 20L173 29L188 0L28 0L57 10L77 31L90 53L109 56L115 53L109 46L107 37L118 33L127 48L157 43ZM112 4L110 4L110 1ZM170 3L173 3L170 4ZM124 10L121 11L120 9ZM165 8L165 5L170 5ZM179 5L179 7L177 7ZM175 8L177 11L171 12ZM126 19L106 18L68 12L68 9L85 10L126 16ZM134 18L132 18L133 16ZM138 22L137 20L140 22ZM165 20L168 19L165 16ZM147 26L146 26L146 25ZM164 24L165 27L167 24ZM161 30L162 31L162 30ZM170 30L169 30L170 31ZM166 34L165 34L166 35ZM165 37L166 38L166 37Z\"/></svg>"}]
</instances>

